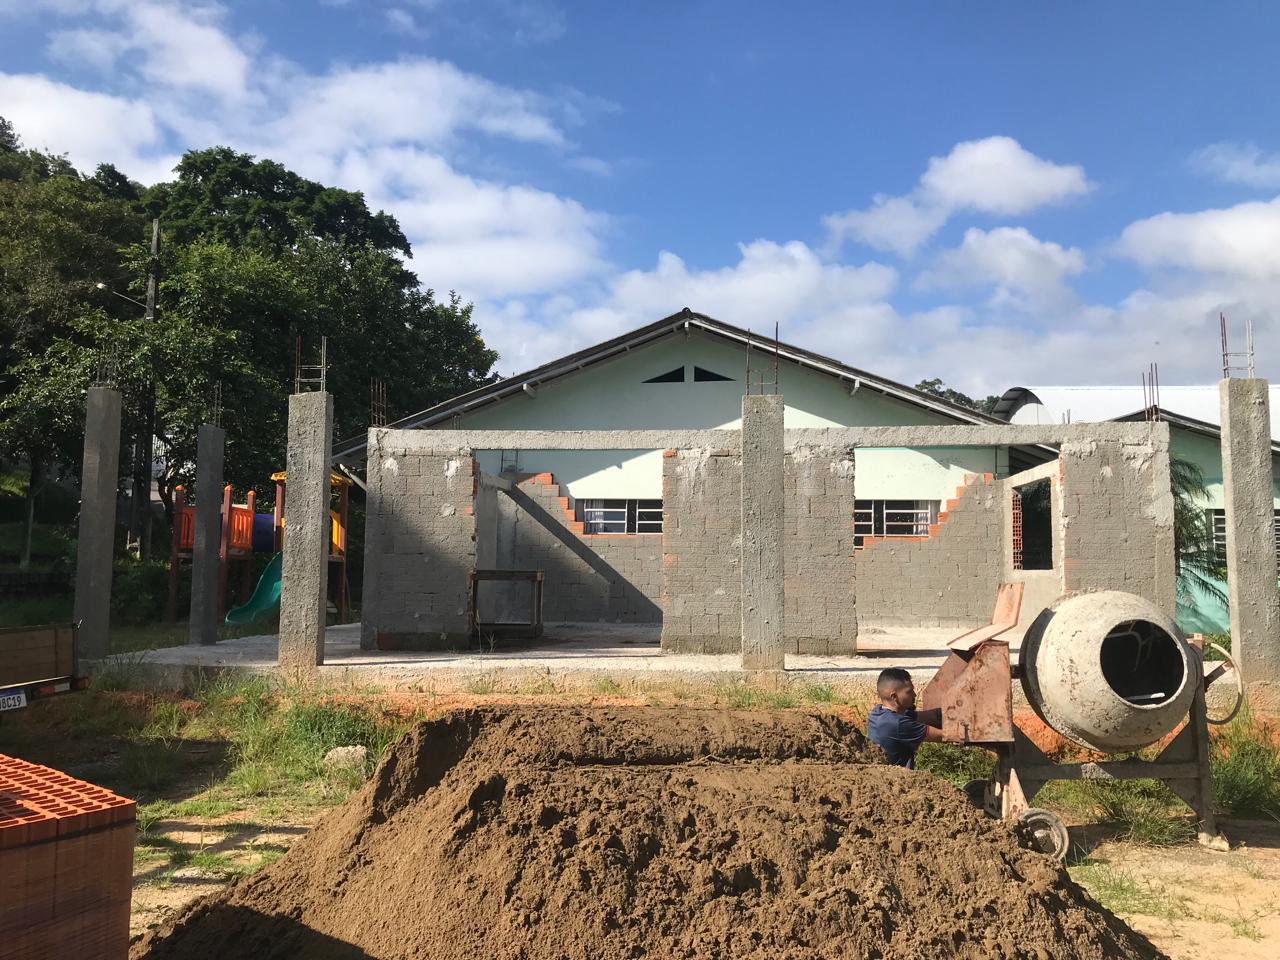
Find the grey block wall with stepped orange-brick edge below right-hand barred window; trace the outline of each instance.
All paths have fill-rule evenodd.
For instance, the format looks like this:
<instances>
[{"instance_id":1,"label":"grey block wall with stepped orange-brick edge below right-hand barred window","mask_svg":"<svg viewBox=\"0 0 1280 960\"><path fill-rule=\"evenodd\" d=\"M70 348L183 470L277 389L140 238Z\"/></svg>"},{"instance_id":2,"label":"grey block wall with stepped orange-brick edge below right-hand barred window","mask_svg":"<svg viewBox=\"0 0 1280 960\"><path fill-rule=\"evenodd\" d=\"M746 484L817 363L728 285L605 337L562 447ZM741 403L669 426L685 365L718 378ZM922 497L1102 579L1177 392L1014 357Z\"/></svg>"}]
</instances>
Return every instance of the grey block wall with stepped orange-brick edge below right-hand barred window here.
<instances>
[{"instance_id":1,"label":"grey block wall with stepped orange-brick edge below right-hand barred window","mask_svg":"<svg viewBox=\"0 0 1280 960\"><path fill-rule=\"evenodd\" d=\"M1005 568L1007 490L972 477L923 540L874 540L856 553L863 623L961 627L987 622Z\"/></svg>"}]
</instances>

